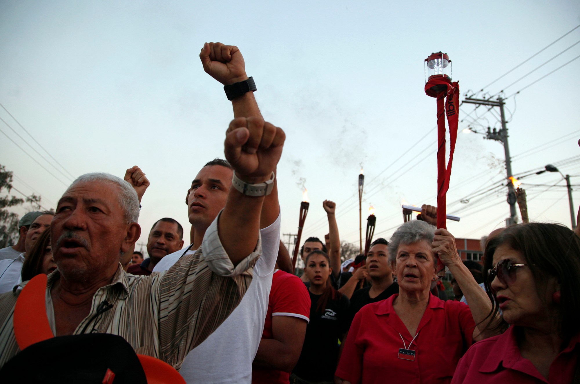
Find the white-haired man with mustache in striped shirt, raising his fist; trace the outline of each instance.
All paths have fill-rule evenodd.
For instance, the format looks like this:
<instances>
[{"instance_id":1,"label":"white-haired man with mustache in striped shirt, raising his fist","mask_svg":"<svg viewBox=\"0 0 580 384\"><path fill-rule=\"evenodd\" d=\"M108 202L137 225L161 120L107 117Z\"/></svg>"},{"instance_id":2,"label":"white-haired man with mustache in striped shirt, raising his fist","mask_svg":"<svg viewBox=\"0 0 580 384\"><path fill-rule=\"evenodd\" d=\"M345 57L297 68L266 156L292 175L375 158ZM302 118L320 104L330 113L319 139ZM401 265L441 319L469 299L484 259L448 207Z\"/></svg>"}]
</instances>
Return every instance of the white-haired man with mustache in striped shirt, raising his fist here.
<instances>
[{"instance_id":1,"label":"white-haired man with mustache in striped shirt, raising his fist","mask_svg":"<svg viewBox=\"0 0 580 384\"><path fill-rule=\"evenodd\" d=\"M247 191L270 182L284 139L280 128L260 118L231 122L225 154L236 184L245 187L231 187L197 252L151 276L127 274L119 263L141 233L135 190L106 173L75 180L51 224L58 269L48 277L45 305L53 335L119 335L137 353L179 369L187 352L229 316L249 286L261 253L264 196ZM0 295L0 367L20 350L13 327L17 295Z\"/></svg>"}]
</instances>

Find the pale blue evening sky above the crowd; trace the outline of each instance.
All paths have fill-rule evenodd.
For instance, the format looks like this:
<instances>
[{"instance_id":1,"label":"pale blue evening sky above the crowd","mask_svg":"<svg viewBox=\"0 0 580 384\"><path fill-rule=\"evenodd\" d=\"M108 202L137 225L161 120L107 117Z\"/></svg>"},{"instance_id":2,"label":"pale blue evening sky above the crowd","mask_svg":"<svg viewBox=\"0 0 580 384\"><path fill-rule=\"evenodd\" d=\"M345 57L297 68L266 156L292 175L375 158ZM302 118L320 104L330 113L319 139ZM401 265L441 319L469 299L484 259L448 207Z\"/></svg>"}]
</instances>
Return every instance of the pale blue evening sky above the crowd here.
<instances>
[{"instance_id":1,"label":"pale blue evening sky above the crowd","mask_svg":"<svg viewBox=\"0 0 580 384\"><path fill-rule=\"evenodd\" d=\"M222 85L205 74L198 57L204 42L219 41L240 48L264 118L287 133L278 165L282 233L296 233L305 180L310 212L303 240L327 233L322 201L329 199L338 203L341 239L358 244L362 164L363 236L372 204L376 234L388 239L403 221L402 201L436 204L436 102L423 91L423 60L447 52L463 100L468 90L480 90L579 24L580 2L564 0L3 0L0 103L64 169L2 108L0 118L26 142L2 121L0 130L48 171L2 134L0 164L14 172L14 187L41 194L46 208L55 208L73 176L102 171L122 177L139 165L151 181L139 242L164 216L189 227L186 191L205 162L223 157L233 118ZM580 28L484 92L495 95L578 41ZM578 55L580 44L505 88L505 96ZM580 184L579 72L580 59L507 99L516 175L556 164ZM477 118L484 111L476 115L464 104L459 114L465 121L447 196L448 213L461 216L448 222L456 237L479 238L509 216L506 188L451 204L505 177L501 143L461 133L473 121L467 114ZM499 128L492 112L472 124L480 131L488 125ZM560 179L545 173L521 180L532 220L570 226Z\"/></svg>"}]
</instances>

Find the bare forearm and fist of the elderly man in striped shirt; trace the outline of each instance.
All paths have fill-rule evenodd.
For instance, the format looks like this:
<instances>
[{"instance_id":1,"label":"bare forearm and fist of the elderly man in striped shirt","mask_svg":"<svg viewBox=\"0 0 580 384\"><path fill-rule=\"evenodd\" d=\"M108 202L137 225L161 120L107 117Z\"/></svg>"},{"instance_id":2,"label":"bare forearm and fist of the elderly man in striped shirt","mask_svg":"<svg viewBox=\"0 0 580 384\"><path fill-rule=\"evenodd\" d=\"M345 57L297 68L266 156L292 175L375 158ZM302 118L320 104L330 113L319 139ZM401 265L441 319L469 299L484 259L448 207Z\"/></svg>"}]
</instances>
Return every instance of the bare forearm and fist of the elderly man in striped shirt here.
<instances>
[{"instance_id":1,"label":"bare forearm and fist of the elderly man in striped shirt","mask_svg":"<svg viewBox=\"0 0 580 384\"><path fill-rule=\"evenodd\" d=\"M224 153L243 183L261 184L271 179L282 154L285 133L258 117L237 118L226 132ZM258 242L264 197L242 194L231 187L218 222L219 238L231 262L237 265Z\"/></svg>"}]
</instances>

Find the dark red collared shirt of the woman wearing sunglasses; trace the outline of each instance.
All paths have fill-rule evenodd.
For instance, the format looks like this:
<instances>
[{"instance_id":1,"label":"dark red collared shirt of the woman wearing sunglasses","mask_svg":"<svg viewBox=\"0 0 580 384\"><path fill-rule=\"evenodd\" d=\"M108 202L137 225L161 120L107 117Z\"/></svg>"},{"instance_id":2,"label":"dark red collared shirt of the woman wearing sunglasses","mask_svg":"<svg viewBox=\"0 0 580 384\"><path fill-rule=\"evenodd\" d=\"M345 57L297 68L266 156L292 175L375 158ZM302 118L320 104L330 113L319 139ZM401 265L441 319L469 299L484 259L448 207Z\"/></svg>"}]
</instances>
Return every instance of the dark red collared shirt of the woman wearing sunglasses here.
<instances>
[{"instance_id":1,"label":"dark red collared shirt of the woman wearing sunglasses","mask_svg":"<svg viewBox=\"0 0 580 384\"><path fill-rule=\"evenodd\" d=\"M475 343L459 360L452 383L571 383L578 364L580 334L550 365L546 380L530 360L521 356L516 341L517 327L502 335Z\"/></svg>"}]
</instances>

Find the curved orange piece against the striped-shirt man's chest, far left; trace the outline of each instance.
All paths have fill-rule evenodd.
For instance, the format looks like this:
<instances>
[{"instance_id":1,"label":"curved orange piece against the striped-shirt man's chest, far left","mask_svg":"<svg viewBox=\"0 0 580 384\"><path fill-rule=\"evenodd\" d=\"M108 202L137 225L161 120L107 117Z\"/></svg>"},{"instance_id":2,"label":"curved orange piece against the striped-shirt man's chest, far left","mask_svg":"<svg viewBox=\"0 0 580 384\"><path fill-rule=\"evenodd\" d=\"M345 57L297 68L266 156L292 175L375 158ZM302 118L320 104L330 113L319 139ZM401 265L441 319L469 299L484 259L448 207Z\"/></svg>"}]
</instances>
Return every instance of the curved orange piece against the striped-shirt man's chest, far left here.
<instances>
[{"instance_id":1,"label":"curved orange piece against the striped-shirt man's chest, far left","mask_svg":"<svg viewBox=\"0 0 580 384\"><path fill-rule=\"evenodd\" d=\"M41 273L28 281L16 300L13 326L20 350L55 337L46 316L45 295L46 275Z\"/></svg>"}]
</instances>

